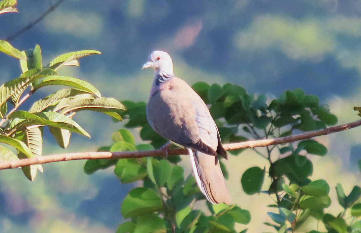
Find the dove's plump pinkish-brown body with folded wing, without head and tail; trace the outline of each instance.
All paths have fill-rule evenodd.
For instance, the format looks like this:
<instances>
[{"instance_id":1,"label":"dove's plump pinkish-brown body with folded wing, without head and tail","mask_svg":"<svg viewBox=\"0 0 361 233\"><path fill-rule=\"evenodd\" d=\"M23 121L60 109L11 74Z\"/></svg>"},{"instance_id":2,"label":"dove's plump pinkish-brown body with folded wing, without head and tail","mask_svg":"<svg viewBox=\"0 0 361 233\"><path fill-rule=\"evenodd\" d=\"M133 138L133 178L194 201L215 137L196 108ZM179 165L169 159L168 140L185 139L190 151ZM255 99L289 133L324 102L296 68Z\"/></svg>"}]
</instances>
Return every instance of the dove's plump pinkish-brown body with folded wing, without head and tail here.
<instances>
[{"instance_id":1,"label":"dove's plump pinkish-brown body with folded wing, without head and tail","mask_svg":"<svg viewBox=\"0 0 361 233\"><path fill-rule=\"evenodd\" d=\"M177 144L217 155L217 127L199 95L175 77L158 88L147 105L153 129Z\"/></svg>"}]
</instances>

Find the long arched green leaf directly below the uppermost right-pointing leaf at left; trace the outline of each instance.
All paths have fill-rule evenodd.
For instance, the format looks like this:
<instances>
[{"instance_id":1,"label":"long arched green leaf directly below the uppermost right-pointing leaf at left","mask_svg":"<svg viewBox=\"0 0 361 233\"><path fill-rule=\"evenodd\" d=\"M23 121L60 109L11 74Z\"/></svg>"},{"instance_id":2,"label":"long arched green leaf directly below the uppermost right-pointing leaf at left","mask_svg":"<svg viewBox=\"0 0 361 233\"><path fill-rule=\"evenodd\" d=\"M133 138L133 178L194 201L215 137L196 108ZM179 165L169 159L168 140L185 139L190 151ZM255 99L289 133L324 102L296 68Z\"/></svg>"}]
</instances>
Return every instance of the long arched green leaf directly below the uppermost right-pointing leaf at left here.
<instances>
[{"instance_id":1,"label":"long arched green leaf directly below the uppermost right-pointing leaf at left","mask_svg":"<svg viewBox=\"0 0 361 233\"><path fill-rule=\"evenodd\" d=\"M44 78L40 83L34 86L34 91L48 85L65 85L69 87L74 87L78 88L81 91L94 94L97 97L101 97L100 92L92 84L81 79L58 75L48 76Z\"/></svg>"}]
</instances>

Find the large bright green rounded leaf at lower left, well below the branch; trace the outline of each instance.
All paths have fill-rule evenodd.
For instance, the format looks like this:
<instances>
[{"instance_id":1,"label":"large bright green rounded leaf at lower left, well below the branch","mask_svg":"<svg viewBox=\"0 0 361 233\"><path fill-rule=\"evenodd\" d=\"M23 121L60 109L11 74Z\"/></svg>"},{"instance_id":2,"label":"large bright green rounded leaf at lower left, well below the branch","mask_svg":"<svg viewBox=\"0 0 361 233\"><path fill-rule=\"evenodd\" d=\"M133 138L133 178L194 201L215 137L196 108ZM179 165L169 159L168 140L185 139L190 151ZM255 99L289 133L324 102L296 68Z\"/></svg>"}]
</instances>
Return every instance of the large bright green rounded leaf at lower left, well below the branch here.
<instances>
[{"instance_id":1,"label":"large bright green rounded leaf at lower left, well below the branch","mask_svg":"<svg viewBox=\"0 0 361 233\"><path fill-rule=\"evenodd\" d=\"M124 198L121 212L127 219L158 211L162 207L162 199L154 190L140 187L131 190Z\"/></svg>"}]
</instances>

